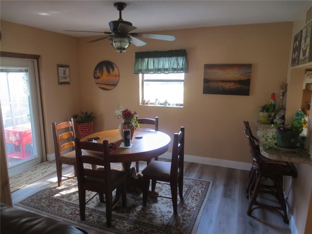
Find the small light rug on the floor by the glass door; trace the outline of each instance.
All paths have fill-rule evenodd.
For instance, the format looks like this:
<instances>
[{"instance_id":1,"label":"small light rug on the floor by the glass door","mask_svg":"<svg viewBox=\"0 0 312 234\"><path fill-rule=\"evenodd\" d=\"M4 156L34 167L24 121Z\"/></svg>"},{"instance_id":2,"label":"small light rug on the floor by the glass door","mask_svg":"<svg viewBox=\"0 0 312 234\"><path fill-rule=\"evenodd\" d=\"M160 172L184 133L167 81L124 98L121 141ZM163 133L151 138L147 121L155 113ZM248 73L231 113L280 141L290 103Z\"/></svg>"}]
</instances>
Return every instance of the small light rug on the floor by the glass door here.
<instances>
[{"instance_id":1,"label":"small light rug on the floor by the glass door","mask_svg":"<svg viewBox=\"0 0 312 234\"><path fill-rule=\"evenodd\" d=\"M9 178L11 193L57 171L55 164L41 163Z\"/></svg>"}]
</instances>

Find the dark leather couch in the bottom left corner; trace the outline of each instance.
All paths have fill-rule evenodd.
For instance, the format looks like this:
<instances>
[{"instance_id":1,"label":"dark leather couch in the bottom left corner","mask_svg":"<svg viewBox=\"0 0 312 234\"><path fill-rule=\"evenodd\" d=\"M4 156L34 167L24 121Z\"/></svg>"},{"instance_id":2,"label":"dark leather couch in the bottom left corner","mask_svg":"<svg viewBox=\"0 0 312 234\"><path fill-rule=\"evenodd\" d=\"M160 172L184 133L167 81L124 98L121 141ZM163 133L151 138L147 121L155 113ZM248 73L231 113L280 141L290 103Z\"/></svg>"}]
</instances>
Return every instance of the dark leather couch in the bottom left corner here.
<instances>
[{"instance_id":1,"label":"dark leather couch in the bottom left corner","mask_svg":"<svg viewBox=\"0 0 312 234\"><path fill-rule=\"evenodd\" d=\"M88 234L85 230L54 218L1 203L1 234Z\"/></svg>"}]
</instances>

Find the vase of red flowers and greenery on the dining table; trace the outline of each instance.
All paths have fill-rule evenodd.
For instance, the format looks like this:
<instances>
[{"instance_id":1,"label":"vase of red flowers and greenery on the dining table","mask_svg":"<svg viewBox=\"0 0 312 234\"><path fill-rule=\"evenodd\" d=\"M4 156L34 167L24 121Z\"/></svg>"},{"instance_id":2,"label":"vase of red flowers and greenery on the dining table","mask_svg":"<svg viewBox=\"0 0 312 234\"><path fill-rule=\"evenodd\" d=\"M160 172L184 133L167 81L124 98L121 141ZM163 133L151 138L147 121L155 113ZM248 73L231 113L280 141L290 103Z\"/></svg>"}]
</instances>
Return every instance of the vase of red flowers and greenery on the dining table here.
<instances>
[{"instance_id":1,"label":"vase of red flowers and greenery on the dining table","mask_svg":"<svg viewBox=\"0 0 312 234\"><path fill-rule=\"evenodd\" d=\"M118 106L118 110L115 111L117 118L122 118L122 122L119 123L118 130L121 139L123 139L123 130L130 129L130 138L132 139L135 129L139 128L137 122L137 112L130 111L129 109L124 109L122 106Z\"/></svg>"}]
</instances>

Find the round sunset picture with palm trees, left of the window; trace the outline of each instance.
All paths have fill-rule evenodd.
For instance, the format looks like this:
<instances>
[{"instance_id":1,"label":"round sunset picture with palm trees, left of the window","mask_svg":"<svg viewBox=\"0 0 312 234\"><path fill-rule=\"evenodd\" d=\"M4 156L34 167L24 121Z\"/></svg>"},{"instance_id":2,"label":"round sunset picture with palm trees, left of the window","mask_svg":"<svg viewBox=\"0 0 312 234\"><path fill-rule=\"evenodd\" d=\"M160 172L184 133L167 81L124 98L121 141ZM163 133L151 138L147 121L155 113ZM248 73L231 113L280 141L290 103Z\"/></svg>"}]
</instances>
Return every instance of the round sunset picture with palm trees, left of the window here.
<instances>
[{"instance_id":1,"label":"round sunset picture with palm trees, left of the window","mask_svg":"<svg viewBox=\"0 0 312 234\"><path fill-rule=\"evenodd\" d=\"M94 69L93 78L102 90L114 89L119 82L119 71L111 61L101 61Z\"/></svg>"}]
</instances>

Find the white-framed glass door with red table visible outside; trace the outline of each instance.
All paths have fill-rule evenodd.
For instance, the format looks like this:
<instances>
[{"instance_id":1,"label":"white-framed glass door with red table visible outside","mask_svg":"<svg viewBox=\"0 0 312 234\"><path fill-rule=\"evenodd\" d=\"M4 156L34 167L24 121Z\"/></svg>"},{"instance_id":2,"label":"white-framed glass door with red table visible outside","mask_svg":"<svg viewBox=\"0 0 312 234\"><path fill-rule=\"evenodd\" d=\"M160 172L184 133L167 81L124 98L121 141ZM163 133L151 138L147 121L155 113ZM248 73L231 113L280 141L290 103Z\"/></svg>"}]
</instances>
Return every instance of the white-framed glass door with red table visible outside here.
<instances>
[{"instance_id":1,"label":"white-framed glass door with red table visible outside","mask_svg":"<svg viewBox=\"0 0 312 234\"><path fill-rule=\"evenodd\" d=\"M42 162L37 61L0 60L0 103L9 176Z\"/></svg>"}]
</instances>

